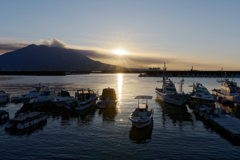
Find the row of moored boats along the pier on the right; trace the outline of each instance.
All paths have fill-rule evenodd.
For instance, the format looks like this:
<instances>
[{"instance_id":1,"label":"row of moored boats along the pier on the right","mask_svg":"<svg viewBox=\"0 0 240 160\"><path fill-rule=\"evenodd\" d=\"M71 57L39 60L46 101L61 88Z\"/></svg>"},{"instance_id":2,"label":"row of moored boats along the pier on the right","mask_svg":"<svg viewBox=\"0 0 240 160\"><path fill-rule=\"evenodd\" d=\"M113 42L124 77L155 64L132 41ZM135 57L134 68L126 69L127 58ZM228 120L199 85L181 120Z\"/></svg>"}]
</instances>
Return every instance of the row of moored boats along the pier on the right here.
<instances>
[{"instance_id":1,"label":"row of moored boats along the pier on the right","mask_svg":"<svg viewBox=\"0 0 240 160\"><path fill-rule=\"evenodd\" d=\"M178 106L184 105L189 100L191 102L194 101L194 103L199 103L207 106L211 106L217 100L222 103L235 103L235 106L238 106L240 103L240 87L237 86L237 82L234 80L218 80L217 82L221 83L221 89L213 89L212 94L210 94L207 88L204 87L201 83L193 83L191 86L193 87L192 92L185 94L182 91L184 80L181 80L180 92L177 92L174 82L165 76L166 69L167 68L164 63L163 80L158 81L163 83L162 88L155 88L157 97L166 103L171 103Z\"/></svg>"}]
</instances>

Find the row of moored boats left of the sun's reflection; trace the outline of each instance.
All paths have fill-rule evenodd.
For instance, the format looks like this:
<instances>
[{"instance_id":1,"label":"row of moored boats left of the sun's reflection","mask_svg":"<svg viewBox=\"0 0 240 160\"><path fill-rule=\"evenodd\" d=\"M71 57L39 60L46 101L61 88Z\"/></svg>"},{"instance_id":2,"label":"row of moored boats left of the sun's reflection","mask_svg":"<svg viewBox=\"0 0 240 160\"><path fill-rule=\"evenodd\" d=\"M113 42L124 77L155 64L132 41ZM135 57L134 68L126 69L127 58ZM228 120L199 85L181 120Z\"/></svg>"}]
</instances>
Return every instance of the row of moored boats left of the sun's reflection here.
<instances>
[{"instance_id":1,"label":"row of moored boats left of the sun's reflection","mask_svg":"<svg viewBox=\"0 0 240 160\"><path fill-rule=\"evenodd\" d=\"M75 95L72 96L70 92ZM58 94L54 89L49 89L47 85L39 85L32 87L29 93L24 95L18 95L11 98L14 103L23 103L24 105L31 106L33 109L38 107L51 107L53 105L57 107L64 107L67 109L83 110L92 105L95 105L98 98L100 100L97 103L99 108L115 108L117 104L117 96L113 88L103 89L102 95L99 97L91 89L61 89ZM5 91L0 92L0 103L9 102L10 94Z\"/></svg>"}]
</instances>

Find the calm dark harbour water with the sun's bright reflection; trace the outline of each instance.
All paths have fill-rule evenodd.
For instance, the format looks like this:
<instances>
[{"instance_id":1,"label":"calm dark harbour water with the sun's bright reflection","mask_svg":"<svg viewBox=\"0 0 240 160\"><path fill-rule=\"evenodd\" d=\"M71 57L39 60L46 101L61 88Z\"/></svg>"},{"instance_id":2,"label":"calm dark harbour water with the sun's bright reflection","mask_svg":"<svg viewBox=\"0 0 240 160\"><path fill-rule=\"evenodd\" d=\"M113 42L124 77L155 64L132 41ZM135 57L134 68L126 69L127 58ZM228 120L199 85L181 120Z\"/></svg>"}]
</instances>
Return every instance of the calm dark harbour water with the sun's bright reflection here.
<instances>
[{"instance_id":1,"label":"calm dark harbour water with the sun's bright reflection","mask_svg":"<svg viewBox=\"0 0 240 160\"><path fill-rule=\"evenodd\" d=\"M47 111L45 125L21 134L9 134L0 125L0 159L239 159L240 147L198 119L188 107L169 105L156 99L156 77L137 74L89 74L70 76L0 76L0 90L23 94L31 86L49 83L60 87L91 88L101 94L115 88L118 108L89 108L82 112L63 109ZM180 78L172 78L180 82ZM215 78L195 78L209 91L220 88ZM240 84L240 79L236 79ZM192 78L185 78L183 90L190 92ZM176 83L176 88L179 85ZM138 131L128 117L137 106L136 95L151 95L154 109L152 126ZM1 106L10 118L22 104ZM236 117L239 111L222 106Z\"/></svg>"}]
</instances>

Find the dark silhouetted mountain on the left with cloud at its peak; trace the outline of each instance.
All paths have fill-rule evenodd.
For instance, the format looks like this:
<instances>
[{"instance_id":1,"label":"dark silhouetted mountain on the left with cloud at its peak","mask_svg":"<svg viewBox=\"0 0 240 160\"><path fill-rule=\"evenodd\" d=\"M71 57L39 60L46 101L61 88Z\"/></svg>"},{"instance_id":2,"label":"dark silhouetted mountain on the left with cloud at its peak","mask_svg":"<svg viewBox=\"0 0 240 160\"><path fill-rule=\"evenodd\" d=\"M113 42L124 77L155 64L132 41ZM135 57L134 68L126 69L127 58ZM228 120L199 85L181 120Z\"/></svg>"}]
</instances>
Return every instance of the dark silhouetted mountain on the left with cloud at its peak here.
<instances>
[{"instance_id":1,"label":"dark silhouetted mountain on the left with cloud at its peak","mask_svg":"<svg viewBox=\"0 0 240 160\"><path fill-rule=\"evenodd\" d=\"M84 52L84 51L83 51ZM87 52L87 51L86 51ZM71 49L31 44L27 47L0 55L0 70L106 70L121 71L126 68L108 65Z\"/></svg>"}]
</instances>

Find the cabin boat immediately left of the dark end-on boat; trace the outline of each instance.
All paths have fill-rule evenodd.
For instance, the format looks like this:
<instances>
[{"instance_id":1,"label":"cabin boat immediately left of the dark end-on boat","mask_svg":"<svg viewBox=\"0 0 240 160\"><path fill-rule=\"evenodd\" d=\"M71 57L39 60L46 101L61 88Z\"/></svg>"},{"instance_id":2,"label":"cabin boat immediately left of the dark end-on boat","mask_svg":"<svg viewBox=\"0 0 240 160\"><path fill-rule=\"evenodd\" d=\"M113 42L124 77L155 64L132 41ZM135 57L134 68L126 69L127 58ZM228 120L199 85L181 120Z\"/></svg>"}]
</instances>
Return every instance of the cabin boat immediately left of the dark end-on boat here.
<instances>
[{"instance_id":1,"label":"cabin boat immediately left of the dark end-on boat","mask_svg":"<svg viewBox=\"0 0 240 160\"><path fill-rule=\"evenodd\" d=\"M93 90L81 89L76 93L76 99L65 103L65 108L74 110L84 110L96 104L98 95Z\"/></svg>"}]
</instances>

